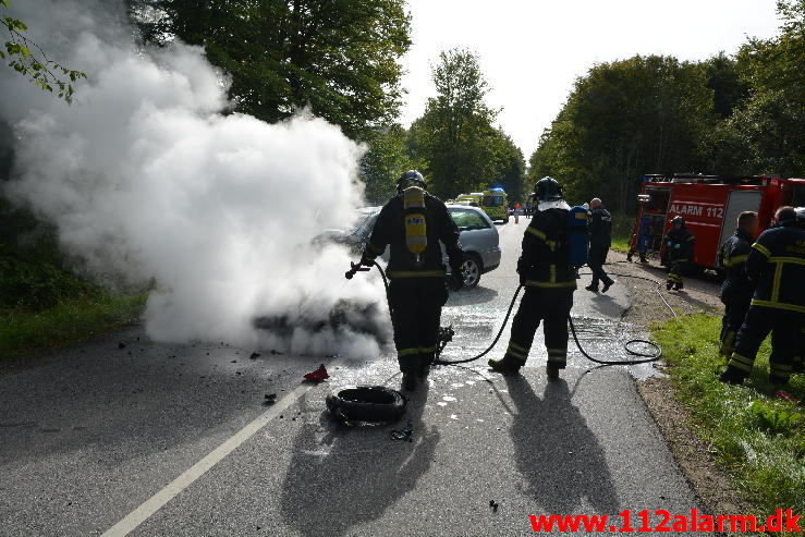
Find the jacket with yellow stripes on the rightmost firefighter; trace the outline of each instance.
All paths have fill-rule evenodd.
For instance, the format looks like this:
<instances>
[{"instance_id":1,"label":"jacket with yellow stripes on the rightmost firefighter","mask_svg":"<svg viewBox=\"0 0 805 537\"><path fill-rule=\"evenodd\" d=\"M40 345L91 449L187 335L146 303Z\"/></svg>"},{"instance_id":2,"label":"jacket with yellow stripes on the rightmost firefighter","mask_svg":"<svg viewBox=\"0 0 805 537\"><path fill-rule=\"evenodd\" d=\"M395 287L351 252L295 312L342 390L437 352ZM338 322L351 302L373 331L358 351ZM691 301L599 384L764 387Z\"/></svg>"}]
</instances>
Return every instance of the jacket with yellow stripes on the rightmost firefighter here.
<instances>
[{"instance_id":1,"label":"jacket with yellow stripes on the rightmost firefighter","mask_svg":"<svg viewBox=\"0 0 805 537\"><path fill-rule=\"evenodd\" d=\"M752 305L805 314L805 230L785 222L764 231L746 258Z\"/></svg>"}]
</instances>

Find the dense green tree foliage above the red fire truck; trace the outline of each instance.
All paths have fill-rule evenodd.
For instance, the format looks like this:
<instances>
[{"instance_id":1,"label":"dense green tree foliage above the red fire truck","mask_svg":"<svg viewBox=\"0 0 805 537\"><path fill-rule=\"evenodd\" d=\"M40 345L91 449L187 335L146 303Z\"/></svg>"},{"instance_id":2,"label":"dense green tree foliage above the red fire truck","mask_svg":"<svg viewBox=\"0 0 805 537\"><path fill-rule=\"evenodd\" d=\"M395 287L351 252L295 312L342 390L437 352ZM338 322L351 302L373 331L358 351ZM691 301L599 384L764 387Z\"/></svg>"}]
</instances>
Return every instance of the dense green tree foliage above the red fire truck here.
<instances>
[{"instance_id":1,"label":"dense green tree foliage above the red fire truck","mask_svg":"<svg viewBox=\"0 0 805 537\"><path fill-rule=\"evenodd\" d=\"M542 133L528 178L569 197L633 208L646 173L805 173L805 3L778 3L780 35L704 62L634 57L576 81Z\"/></svg>"}]
</instances>

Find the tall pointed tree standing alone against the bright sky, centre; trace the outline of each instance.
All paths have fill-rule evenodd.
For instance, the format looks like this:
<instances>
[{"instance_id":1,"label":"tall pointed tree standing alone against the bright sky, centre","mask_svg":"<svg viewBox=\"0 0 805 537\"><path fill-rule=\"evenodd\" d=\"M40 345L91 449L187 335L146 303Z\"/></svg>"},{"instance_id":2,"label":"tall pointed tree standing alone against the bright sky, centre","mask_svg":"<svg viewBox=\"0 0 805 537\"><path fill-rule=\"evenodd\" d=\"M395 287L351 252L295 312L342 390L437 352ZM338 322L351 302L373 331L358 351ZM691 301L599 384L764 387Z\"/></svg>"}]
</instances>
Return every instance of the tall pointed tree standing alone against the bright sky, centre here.
<instances>
[{"instance_id":1,"label":"tall pointed tree standing alone against the bright sky, centre","mask_svg":"<svg viewBox=\"0 0 805 537\"><path fill-rule=\"evenodd\" d=\"M500 133L492 126L497 111L484 102L489 85L478 58L465 49L439 54L431 66L437 97L411 125L412 155L426 162L434 192L453 197L495 181L495 146Z\"/></svg>"}]
</instances>

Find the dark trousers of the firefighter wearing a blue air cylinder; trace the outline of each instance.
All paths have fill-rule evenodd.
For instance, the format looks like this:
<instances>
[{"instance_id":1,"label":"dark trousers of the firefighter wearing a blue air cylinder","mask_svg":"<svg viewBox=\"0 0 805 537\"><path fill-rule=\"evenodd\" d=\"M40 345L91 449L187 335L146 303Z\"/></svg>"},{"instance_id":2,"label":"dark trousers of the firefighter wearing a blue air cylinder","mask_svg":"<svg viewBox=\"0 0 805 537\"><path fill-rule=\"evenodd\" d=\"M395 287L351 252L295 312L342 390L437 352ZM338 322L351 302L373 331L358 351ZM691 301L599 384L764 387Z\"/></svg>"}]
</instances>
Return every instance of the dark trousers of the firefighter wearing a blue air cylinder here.
<instances>
[{"instance_id":1,"label":"dark trousers of the firefighter wearing a blue air cylinder","mask_svg":"<svg viewBox=\"0 0 805 537\"><path fill-rule=\"evenodd\" d=\"M512 321L505 359L525 364L541 321L548 365L564 368L568 362L568 317L573 307L573 288L525 288Z\"/></svg>"}]
</instances>

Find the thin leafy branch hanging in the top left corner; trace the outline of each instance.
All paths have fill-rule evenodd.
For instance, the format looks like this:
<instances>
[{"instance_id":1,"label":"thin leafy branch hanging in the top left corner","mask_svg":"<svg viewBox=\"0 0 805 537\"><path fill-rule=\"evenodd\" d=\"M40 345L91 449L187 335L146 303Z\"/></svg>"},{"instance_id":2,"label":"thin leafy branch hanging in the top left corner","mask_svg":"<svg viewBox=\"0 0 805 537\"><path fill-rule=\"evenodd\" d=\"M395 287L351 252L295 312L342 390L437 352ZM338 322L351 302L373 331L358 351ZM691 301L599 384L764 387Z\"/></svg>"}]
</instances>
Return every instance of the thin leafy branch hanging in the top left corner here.
<instances>
[{"instance_id":1,"label":"thin leafy branch hanging in the top left corner","mask_svg":"<svg viewBox=\"0 0 805 537\"><path fill-rule=\"evenodd\" d=\"M72 102L75 87L73 84L87 75L81 71L66 68L50 58L26 34L28 26L13 16L8 16L4 10L11 7L8 0L0 0L3 14L0 16L0 26L8 32L5 50L0 50L0 60L8 60L8 65L23 76L29 76L32 84L44 91L54 93L68 103Z\"/></svg>"}]
</instances>

